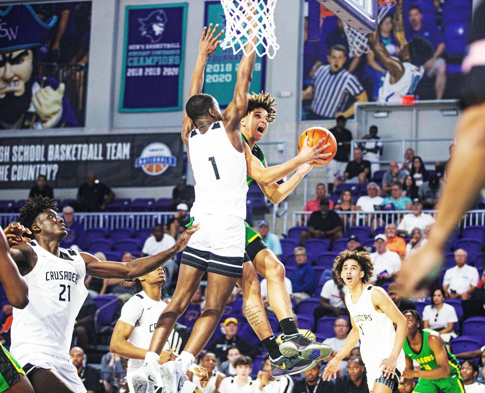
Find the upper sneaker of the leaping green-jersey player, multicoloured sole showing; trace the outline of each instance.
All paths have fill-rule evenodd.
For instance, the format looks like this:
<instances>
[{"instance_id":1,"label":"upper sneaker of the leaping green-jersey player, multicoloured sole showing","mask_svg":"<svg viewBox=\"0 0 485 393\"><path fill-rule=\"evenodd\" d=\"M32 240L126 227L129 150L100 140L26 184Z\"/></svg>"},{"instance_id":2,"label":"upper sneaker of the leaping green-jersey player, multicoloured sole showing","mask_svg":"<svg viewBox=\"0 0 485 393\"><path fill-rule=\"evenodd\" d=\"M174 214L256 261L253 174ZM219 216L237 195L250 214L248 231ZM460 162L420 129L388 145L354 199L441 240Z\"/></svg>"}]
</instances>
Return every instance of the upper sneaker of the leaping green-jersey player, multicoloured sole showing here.
<instances>
[{"instance_id":1,"label":"upper sneaker of the leaping green-jersey player, multicoloured sole showing","mask_svg":"<svg viewBox=\"0 0 485 393\"><path fill-rule=\"evenodd\" d=\"M298 356L308 360L324 360L332 354L332 347L327 344L310 340L301 333L283 336L280 352L288 358Z\"/></svg>"}]
</instances>

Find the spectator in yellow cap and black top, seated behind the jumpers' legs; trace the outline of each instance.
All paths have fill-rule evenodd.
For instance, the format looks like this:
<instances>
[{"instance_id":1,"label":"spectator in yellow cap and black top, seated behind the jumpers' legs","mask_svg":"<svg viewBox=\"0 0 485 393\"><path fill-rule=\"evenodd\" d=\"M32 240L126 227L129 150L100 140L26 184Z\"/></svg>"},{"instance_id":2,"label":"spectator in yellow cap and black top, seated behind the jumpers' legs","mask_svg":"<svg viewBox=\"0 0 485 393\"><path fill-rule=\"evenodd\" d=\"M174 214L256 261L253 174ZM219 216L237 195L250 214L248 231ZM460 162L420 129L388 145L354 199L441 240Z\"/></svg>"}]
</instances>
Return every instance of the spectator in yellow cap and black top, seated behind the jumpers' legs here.
<instances>
[{"instance_id":1,"label":"spectator in yellow cap and black top, seated behind the jumpers' legs","mask_svg":"<svg viewBox=\"0 0 485 393\"><path fill-rule=\"evenodd\" d=\"M219 362L227 359L229 348L239 348L243 355L247 355L251 359L259 355L261 352L259 348L238 336L238 320L236 318L226 318L222 323L222 327L225 331L224 335L212 341L212 344L207 348L214 353Z\"/></svg>"}]
</instances>

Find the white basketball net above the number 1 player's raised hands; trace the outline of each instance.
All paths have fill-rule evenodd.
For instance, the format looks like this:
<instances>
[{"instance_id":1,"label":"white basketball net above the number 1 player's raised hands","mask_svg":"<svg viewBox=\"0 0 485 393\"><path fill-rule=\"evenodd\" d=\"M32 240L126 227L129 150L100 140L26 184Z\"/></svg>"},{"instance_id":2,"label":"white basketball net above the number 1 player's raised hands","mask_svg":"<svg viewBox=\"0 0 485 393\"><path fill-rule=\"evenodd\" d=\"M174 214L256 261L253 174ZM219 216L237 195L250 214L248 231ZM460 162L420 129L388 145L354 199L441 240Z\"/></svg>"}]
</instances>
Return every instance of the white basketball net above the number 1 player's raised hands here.
<instances>
[{"instance_id":1,"label":"white basketball net above the number 1 player's raised hands","mask_svg":"<svg viewBox=\"0 0 485 393\"><path fill-rule=\"evenodd\" d=\"M221 0L226 16L226 35L221 48L233 53L273 59L280 46L276 43L274 13L277 0ZM246 43L256 36L256 45Z\"/></svg>"}]
</instances>

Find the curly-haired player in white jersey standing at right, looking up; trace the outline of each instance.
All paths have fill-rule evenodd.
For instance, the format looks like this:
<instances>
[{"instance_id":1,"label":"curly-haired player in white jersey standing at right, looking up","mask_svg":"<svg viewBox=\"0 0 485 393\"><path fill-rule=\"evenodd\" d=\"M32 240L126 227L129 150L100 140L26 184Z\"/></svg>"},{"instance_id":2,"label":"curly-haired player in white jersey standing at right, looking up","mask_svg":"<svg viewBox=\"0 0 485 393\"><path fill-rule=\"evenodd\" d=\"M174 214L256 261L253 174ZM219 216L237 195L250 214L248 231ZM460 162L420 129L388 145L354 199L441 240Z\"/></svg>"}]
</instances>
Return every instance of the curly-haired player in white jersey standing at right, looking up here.
<instances>
[{"instance_id":1,"label":"curly-haired player in white jersey standing at right, looking up","mask_svg":"<svg viewBox=\"0 0 485 393\"><path fill-rule=\"evenodd\" d=\"M352 329L342 348L325 368L322 378L336 377L340 362L361 341L361 356L367 370L367 384L372 393L397 392L399 376L406 368L403 344L408 332L406 318L381 288L367 284L374 264L369 253L343 251L333 264L334 277L349 292L345 304ZM395 324L397 330L394 330Z\"/></svg>"}]
</instances>

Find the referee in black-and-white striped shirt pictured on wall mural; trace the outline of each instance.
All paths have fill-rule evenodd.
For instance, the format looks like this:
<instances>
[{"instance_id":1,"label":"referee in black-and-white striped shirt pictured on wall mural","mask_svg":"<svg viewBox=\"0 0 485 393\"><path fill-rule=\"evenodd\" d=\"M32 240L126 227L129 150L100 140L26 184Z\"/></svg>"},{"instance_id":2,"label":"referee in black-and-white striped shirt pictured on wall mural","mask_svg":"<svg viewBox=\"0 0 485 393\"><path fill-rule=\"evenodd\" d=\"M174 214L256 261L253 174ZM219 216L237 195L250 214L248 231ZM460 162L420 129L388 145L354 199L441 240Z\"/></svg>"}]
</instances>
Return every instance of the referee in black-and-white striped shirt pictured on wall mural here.
<instances>
[{"instance_id":1,"label":"referee in black-and-white striped shirt pictured on wall mural","mask_svg":"<svg viewBox=\"0 0 485 393\"><path fill-rule=\"evenodd\" d=\"M303 100L312 100L308 119L347 119L354 115L354 101L367 102L367 93L355 75L343 68L345 47L335 45L327 56L328 65L317 69L311 86L303 91Z\"/></svg>"}]
</instances>

